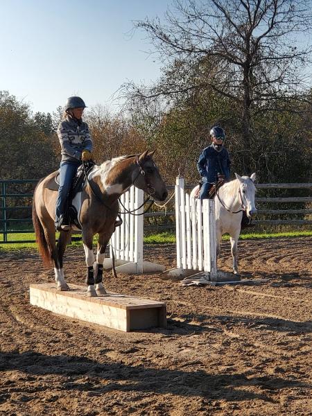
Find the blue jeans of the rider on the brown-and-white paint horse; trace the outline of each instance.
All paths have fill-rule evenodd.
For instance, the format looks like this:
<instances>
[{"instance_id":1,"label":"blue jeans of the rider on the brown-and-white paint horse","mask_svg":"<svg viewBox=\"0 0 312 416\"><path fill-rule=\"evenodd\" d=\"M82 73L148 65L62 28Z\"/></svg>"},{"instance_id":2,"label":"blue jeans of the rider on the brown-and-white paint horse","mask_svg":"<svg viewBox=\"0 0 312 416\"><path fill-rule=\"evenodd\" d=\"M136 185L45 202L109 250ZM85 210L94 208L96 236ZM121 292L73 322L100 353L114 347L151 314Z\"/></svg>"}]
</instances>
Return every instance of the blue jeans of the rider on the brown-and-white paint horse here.
<instances>
[{"instance_id":1,"label":"blue jeans of the rider on the brown-and-white paint horse","mask_svg":"<svg viewBox=\"0 0 312 416\"><path fill-rule=\"evenodd\" d=\"M66 214L69 191L80 164L80 161L72 162L71 160L60 163L60 187L58 188L58 198L55 206L55 224L60 223L60 220Z\"/></svg>"}]
</instances>

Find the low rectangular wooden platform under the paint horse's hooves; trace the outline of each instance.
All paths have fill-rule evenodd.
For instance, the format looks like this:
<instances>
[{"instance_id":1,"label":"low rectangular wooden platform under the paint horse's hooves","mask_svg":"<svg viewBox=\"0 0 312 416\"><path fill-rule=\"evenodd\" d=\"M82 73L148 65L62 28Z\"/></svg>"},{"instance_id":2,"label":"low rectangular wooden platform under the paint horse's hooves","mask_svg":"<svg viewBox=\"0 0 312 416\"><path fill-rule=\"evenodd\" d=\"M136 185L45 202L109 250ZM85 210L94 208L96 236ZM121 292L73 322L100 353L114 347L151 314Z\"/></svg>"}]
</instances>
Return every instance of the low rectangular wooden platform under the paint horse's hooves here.
<instances>
[{"instance_id":1,"label":"low rectangular wooden platform under the paint horse's hooves","mask_svg":"<svg viewBox=\"0 0 312 416\"><path fill-rule=\"evenodd\" d=\"M31 304L60 315L105 327L132 331L151 327L166 328L166 304L150 299L108 293L86 297L86 287L70 285L71 291L60 292L55 284L31 284Z\"/></svg>"}]
</instances>

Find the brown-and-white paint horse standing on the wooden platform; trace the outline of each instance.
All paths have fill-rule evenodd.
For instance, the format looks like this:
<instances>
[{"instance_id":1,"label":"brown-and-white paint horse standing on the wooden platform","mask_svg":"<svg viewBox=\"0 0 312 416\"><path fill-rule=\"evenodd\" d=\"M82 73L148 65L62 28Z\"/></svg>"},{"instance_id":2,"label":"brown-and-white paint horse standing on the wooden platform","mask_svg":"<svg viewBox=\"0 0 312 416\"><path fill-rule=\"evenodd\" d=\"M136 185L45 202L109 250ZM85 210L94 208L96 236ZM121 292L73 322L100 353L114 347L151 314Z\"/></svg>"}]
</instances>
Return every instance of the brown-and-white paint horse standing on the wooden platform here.
<instances>
[{"instance_id":1,"label":"brown-and-white paint horse standing on the wooden platform","mask_svg":"<svg viewBox=\"0 0 312 416\"><path fill-rule=\"evenodd\" d=\"M153 161L153 153L116 157L94 166L88 173L88 180L73 198L82 228L85 261L87 263L87 296L105 295L103 286L103 261L105 249L114 232L114 223L119 211L118 198L133 184L153 197L164 201L168 196L166 185ZM56 287L68 291L64 278L63 256L70 238L70 232L60 232L55 244L55 201L57 191L49 189L58 172L53 172L37 184L33 198L33 225L39 252L46 266L53 262ZM53 187L52 187L53 188ZM98 234L96 267L92 241Z\"/></svg>"}]
</instances>

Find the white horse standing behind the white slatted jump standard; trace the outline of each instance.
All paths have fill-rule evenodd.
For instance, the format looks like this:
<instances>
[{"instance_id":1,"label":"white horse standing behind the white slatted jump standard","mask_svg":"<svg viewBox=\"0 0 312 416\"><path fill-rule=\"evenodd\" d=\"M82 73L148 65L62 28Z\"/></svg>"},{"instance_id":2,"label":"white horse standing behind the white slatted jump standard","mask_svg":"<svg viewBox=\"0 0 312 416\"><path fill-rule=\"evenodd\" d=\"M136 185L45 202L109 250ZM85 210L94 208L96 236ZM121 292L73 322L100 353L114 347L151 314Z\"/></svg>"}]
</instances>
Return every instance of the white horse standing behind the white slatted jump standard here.
<instances>
[{"instance_id":1,"label":"white horse standing behind the white slatted jump standard","mask_svg":"<svg viewBox=\"0 0 312 416\"><path fill-rule=\"evenodd\" d=\"M238 248L239 234L241 233L241 218L243 211L248 218L257 214L254 203L256 187L254 180L256 174L239 176L235 173L236 179L226 182L220 187L214 197L216 211L216 255L220 253L220 242L223 234L228 233L231 241L231 253L233 258L234 274L239 274ZM198 196L199 185L191 191L191 198Z\"/></svg>"}]
</instances>

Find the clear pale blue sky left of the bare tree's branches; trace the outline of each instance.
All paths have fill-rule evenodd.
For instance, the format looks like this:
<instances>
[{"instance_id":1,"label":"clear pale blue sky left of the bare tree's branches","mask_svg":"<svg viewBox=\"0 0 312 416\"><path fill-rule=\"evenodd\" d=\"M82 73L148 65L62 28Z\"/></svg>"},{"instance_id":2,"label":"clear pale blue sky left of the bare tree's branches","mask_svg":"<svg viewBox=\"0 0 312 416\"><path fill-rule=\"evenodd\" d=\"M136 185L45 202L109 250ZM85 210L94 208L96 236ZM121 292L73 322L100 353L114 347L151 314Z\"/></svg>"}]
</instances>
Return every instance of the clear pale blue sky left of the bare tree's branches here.
<instances>
[{"instance_id":1,"label":"clear pale blue sky left of the bare tree's branches","mask_svg":"<svg viewBox=\"0 0 312 416\"><path fill-rule=\"evenodd\" d=\"M146 53L133 21L164 17L166 0L0 0L0 90L33 112L54 112L67 97L114 110L127 80L150 83L161 64Z\"/></svg>"}]
</instances>

